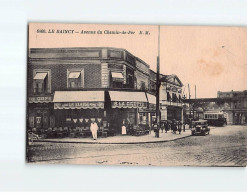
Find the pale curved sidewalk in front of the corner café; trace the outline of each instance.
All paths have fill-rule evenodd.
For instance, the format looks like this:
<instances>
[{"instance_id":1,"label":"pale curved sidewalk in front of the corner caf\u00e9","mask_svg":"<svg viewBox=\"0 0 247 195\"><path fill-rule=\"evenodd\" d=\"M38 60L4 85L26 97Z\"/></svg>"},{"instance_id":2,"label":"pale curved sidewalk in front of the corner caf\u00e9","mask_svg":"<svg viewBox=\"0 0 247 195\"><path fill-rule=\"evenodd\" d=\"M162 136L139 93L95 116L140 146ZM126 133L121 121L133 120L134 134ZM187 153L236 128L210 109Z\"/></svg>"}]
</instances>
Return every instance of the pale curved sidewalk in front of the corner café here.
<instances>
[{"instance_id":1,"label":"pale curved sidewalk in front of the corner caf\u00e9","mask_svg":"<svg viewBox=\"0 0 247 195\"><path fill-rule=\"evenodd\" d=\"M36 142L54 142L54 143L87 143L87 144L139 144L139 143L156 143L156 142L167 142L174 141L189 137L191 131L188 129L181 134L173 134L171 130L165 133L160 131L160 137L156 138L152 131L149 135L142 136L131 136L131 135L117 135L113 137L98 137L97 140L93 140L91 137L88 138L57 138L57 139L40 139Z\"/></svg>"}]
</instances>

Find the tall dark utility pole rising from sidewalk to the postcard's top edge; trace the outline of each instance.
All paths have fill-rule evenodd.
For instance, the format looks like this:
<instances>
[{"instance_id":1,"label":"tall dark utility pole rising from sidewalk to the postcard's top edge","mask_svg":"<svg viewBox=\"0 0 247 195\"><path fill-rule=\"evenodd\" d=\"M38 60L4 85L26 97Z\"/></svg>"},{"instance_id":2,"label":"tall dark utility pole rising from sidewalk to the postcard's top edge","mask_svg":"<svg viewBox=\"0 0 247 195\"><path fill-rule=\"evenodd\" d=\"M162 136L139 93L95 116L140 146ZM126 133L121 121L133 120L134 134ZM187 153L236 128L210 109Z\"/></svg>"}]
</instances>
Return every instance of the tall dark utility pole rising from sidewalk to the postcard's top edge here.
<instances>
[{"instance_id":1,"label":"tall dark utility pole rising from sidewalk to the postcard's top edge","mask_svg":"<svg viewBox=\"0 0 247 195\"><path fill-rule=\"evenodd\" d=\"M155 137L159 137L160 130L160 25L158 26L158 56L157 56L157 74L156 74L156 122L157 131Z\"/></svg>"}]
</instances>

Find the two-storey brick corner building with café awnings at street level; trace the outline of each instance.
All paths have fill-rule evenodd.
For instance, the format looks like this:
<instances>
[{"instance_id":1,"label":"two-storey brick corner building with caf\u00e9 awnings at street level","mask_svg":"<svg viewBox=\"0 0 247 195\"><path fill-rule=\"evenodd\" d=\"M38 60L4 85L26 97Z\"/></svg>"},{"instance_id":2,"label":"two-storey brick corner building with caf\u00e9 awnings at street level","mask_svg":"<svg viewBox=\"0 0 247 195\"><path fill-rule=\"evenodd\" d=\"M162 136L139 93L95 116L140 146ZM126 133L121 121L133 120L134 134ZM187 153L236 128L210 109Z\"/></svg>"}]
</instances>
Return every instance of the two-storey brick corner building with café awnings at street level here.
<instances>
[{"instance_id":1,"label":"two-storey brick corner building with caf\u00e9 awnings at street level","mask_svg":"<svg viewBox=\"0 0 247 195\"><path fill-rule=\"evenodd\" d=\"M32 48L27 128L151 125L149 65L125 49Z\"/></svg>"}]
</instances>

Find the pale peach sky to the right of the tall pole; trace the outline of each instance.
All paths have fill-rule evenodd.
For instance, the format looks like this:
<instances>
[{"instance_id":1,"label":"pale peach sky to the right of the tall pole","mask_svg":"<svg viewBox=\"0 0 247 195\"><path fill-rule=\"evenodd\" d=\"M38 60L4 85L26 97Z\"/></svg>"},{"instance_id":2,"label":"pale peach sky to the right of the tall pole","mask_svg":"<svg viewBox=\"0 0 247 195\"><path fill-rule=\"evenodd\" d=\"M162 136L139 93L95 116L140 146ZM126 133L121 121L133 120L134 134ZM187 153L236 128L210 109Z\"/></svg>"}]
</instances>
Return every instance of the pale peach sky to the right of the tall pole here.
<instances>
[{"instance_id":1,"label":"pale peach sky to the right of the tall pole","mask_svg":"<svg viewBox=\"0 0 247 195\"><path fill-rule=\"evenodd\" d=\"M162 26L161 72L176 74L188 97L247 90L247 28Z\"/></svg>"}]
</instances>

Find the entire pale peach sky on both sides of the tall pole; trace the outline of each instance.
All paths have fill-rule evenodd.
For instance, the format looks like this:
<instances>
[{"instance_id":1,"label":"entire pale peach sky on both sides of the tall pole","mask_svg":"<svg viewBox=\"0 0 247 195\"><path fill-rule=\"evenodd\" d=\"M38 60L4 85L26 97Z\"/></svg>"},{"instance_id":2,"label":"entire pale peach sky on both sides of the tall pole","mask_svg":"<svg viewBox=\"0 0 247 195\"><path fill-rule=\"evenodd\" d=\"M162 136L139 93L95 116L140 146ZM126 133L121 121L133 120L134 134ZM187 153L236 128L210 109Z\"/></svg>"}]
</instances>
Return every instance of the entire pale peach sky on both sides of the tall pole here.
<instances>
[{"instance_id":1,"label":"entire pale peach sky on both sides of the tall pole","mask_svg":"<svg viewBox=\"0 0 247 195\"><path fill-rule=\"evenodd\" d=\"M47 33L37 33L38 29ZM48 33L49 29L79 33ZM84 34L82 30L95 34ZM104 34L107 30L126 34ZM128 34L129 31L134 34ZM29 47L124 48L156 71L158 26L32 23ZM195 97L195 86L197 98L216 97L217 91L246 90L247 28L161 26L160 72L176 74L184 84L187 97L189 84L191 98Z\"/></svg>"}]
</instances>

